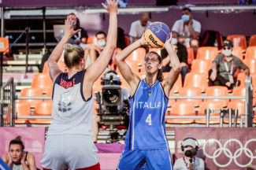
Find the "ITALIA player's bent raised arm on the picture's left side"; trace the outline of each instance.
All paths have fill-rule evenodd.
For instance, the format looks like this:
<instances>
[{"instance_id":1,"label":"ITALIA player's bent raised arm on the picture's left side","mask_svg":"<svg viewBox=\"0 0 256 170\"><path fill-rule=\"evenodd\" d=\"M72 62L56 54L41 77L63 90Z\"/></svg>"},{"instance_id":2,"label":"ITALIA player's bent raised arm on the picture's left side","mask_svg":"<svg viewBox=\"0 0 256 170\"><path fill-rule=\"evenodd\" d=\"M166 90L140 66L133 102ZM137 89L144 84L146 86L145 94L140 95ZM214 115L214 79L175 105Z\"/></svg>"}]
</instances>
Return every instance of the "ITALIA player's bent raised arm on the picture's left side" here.
<instances>
[{"instance_id":1,"label":"ITALIA player's bent raised arm on the picture's left side","mask_svg":"<svg viewBox=\"0 0 256 170\"><path fill-rule=\"evenodd\" d=\"M117 67L119 68L121 75L127 81L129 86L131 87L131 95L134 94L137 84L139 83L139 76L132 72L132 69L129 65L124 61L126 57L132 54L132 51L139 48L139 46L146 45L147 42L144 38L144 35L141 39L136 42L133 42L130 46L127 46L124 50L122 50L116 56Z\"/></svg>"}]
</instances>

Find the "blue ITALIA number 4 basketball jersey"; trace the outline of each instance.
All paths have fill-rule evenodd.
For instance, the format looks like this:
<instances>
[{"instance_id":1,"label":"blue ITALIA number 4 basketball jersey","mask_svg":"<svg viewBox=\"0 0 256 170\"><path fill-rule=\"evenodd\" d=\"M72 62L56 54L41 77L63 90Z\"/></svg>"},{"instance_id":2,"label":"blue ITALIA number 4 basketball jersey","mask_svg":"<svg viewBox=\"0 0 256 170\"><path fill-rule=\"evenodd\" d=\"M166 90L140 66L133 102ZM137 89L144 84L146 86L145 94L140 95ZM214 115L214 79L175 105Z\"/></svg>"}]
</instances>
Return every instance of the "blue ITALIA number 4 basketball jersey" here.
<instances>
[{"instance_id":1,"label":"blue ITALIA number 4 basketball jersey","mask_svg":"<svg viewBox=\"0 0 256 170\"><path fill-rule=\"evenodd\" d=\"M125 138L128 150L169 150L165 135L168 100L161 82L157 81L151 87L145 79L139 82L135 94L129 98L130 124Z\"/></svg>"}]
</instances>

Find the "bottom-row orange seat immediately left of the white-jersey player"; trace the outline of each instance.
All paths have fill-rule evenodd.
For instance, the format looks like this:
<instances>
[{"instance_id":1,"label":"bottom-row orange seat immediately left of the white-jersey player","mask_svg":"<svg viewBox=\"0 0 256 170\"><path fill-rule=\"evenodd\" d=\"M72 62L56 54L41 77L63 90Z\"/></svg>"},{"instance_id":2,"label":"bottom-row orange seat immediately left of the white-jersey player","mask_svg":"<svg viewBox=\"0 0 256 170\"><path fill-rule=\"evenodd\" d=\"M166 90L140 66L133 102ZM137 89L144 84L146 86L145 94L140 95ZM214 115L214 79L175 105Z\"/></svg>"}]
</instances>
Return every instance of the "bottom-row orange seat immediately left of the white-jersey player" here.
<instances>
[{"instance_id":1,"label":"bottom-row orange seat immediately left of the white-jersey player","mask_svg":"<svg viewBox=\"0 0 256 170\"><path fill-rule=\"evenodd\" d=\"M34 116L51 116L51 112L53 110L52 101L39 102L38 105L35 106ZM30 124L50 124L52 119L31 119L28 120Z\"/></svg>"}]
</instances>

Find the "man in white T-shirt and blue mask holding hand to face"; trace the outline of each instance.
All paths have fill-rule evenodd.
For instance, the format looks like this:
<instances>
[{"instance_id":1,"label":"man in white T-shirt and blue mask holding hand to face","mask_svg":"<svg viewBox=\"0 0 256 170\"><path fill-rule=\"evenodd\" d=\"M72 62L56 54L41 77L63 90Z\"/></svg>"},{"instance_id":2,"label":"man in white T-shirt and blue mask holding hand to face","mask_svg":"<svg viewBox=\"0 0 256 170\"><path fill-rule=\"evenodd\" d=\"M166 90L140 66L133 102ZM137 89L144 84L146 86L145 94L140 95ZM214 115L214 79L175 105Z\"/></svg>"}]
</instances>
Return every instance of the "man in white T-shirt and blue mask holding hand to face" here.
<instances>
[{"instance_id":1,"label":"man in white T-shirt and blue mask holding hand to face","mask_svg":"<svg viewBox=\"0 0 256 170\"><path fill-rule=\"evenodd\" d=\"M199 46L198 37L201 32L201 24L193 19L191 9L187 7L182 9L181 15L181 20L176 20L173 24L172 31L178 32L180 35L179 42L184 44L184 46L191 46L196 56Z\"/></svg>"}]
</instances>

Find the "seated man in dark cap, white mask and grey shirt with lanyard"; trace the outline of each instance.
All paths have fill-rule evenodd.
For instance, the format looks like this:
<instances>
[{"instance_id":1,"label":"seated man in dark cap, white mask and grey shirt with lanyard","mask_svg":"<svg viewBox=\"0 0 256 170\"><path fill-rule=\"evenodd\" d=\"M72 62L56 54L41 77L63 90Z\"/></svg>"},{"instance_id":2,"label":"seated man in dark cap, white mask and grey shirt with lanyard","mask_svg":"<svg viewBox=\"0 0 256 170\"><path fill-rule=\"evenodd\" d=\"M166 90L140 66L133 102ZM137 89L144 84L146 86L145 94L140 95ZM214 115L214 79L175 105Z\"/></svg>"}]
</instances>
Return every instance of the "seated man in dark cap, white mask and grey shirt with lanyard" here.
<instances>
[{"instance_id":1,"label":"seated man in dark cap, white mask and grey shirt with lanyard","mask_svg":"<svg viewBox=\"0 0 256 170\"><path fill-rule=\"evenodd\" d=\"M231 40L224 40L223 54L215 57L212 69L209 71L209 86L226 86L228 89L239 86L240 82L234 80L236 69L243 69L248 79L250 71L243 61L232 55L233 43Z\"/></svg>"}]
</instances>

